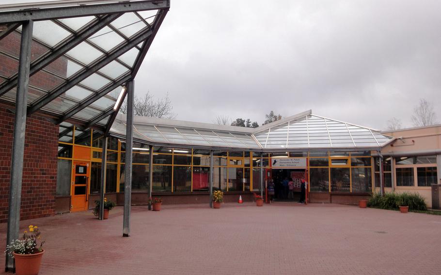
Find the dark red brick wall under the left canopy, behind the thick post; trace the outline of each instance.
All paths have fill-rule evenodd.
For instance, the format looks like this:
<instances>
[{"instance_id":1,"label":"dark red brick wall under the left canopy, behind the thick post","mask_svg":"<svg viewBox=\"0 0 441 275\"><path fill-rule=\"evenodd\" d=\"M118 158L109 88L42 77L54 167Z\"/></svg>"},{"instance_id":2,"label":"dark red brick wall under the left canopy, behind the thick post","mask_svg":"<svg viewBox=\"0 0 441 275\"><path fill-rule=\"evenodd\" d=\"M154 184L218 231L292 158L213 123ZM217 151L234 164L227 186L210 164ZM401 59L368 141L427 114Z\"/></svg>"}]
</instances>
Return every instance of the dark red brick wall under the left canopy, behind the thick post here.
<instances>
[{"instance_id":1,"label":"dark red brick wall under the left canopy, behind the thick post","mask_svg":"<svg viewBox=\"0 0 441 275\"><path fill-rule=\"evenodd\" d=\"M0 105L0 223L8 218L14 114ZM58 126L31 115L26 123L22 220L55 213L57 186Z\"/></svg>"}]
</instances>

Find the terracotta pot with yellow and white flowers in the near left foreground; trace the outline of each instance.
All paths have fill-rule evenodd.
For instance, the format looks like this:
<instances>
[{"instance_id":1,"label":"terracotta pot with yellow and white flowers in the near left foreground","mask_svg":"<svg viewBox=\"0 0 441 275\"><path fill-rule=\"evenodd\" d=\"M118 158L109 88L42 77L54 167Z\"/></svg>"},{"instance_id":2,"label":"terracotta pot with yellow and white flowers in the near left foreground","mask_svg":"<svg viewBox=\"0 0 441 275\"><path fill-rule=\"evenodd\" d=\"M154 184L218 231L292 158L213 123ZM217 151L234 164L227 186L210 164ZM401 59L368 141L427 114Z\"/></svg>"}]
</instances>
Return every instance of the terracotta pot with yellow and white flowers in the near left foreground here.
<instances>
[{"instance_id":1,"label":"terracotta pot with yellow and white flowers in the near left foreground","mask_svg":"<svg viewBox=\"0 0 441 275\"><path fill-rule=\"evenodd\" d=\"M45 242L41 240L38 227L30 225L28 230L24 231L22 239L14 240L6 246L5 253L15 259L17 275L37 275L45 253L42 248Z\"/></svg>"}]
</instances>

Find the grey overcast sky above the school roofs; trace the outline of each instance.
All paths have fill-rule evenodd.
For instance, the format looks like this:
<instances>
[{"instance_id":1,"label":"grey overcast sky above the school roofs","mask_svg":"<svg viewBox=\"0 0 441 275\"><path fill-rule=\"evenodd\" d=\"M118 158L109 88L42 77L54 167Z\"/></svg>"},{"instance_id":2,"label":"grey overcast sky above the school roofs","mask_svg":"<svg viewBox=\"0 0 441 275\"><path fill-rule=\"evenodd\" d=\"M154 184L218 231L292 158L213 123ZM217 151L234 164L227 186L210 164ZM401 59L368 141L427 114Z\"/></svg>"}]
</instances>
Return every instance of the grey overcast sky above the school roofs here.
<instances>
[{"instance_id":1,"label":"grey overcast sky above the school roofs","mask_svg":"<svg viewBox=\"0 0 441 275\"><path fill-rule=\"evenodd\" d=\"M312 109L410 127L420 98L441 121L440 11L439 0L172 0L135 91L169 92L177 119L196 122Z\"/></svg>"}]
</instances>

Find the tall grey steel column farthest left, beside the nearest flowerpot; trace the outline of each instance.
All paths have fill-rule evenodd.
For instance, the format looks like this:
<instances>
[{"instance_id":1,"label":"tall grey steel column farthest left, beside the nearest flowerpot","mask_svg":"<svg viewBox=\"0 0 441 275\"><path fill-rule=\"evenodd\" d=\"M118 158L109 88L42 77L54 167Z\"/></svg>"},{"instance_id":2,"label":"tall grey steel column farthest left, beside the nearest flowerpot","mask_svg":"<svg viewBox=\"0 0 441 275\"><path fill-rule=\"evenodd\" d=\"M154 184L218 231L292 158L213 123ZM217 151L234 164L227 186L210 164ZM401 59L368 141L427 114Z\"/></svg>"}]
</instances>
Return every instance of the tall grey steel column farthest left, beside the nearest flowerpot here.
<instances>
[{"instance_id":1,"label":"tall grey steel column farthest left, beside the nearest flowerpot","mask_svg":"<svg viewBox=\"0 0 441 275\"><path fill-rule=\"evenodd\" d=\"M29 70L31 67L33 21L23 23L21 29L18 86L16 91L16 119L12 145L11 184L9 186L8 232L6 243L18 239L20 228L21 180L25 149L26 108L28 101ZM6 256L6 271L14 271L14 258Z\"/></svg>"}]
</instances>

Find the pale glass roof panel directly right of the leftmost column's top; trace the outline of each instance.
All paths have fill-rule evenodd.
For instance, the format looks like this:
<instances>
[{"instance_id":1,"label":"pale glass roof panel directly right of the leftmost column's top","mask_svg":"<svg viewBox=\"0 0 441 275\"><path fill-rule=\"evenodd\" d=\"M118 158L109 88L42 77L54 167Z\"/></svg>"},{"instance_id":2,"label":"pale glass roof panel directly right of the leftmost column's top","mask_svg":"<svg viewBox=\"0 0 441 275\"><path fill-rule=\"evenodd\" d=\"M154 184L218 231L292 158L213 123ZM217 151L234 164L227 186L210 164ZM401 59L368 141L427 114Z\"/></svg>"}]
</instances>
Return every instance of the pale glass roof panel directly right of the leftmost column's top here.
<instances>
[{"instance_id":1,"label":"pale glass roof panel directly right of the leftmost column's top","mask_svg":"<svg viewBox=\"0 0 441 275\"><path fill-rule=\"evenodd\" d=\"M64 30L50 20L35 21L32 36L47 44L48 46L55 46L63 39L71 35L70 32Z\"/></svg>"}]
</instances>

